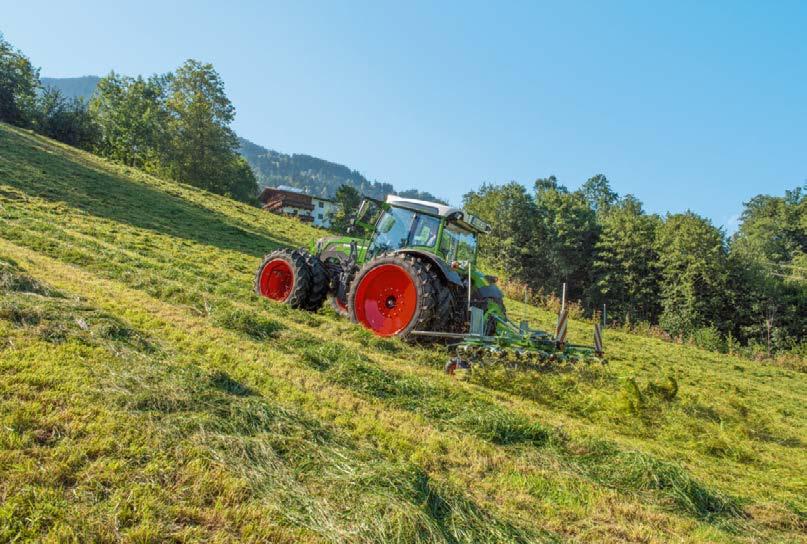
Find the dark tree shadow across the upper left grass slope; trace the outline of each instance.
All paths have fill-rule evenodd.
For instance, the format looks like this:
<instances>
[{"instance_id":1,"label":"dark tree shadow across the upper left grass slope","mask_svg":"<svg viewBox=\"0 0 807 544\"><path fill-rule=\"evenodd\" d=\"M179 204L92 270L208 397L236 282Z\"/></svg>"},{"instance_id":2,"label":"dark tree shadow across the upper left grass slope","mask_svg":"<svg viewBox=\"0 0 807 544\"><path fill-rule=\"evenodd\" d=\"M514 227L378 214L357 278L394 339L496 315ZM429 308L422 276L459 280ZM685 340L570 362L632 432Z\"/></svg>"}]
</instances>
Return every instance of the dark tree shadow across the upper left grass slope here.
<instances>
[{"instance_id":1,"label":"dark tree shadow across the upper left grass slope","mask_svg":"<svg viewBox=\"0 0 807 544\"><path fill-rule=\"evenodd\" d=\"M68 153L53 153L33 136L0 127L0 184L104 219L255 256L293 244Z\"/></svg>"}]
</instances>

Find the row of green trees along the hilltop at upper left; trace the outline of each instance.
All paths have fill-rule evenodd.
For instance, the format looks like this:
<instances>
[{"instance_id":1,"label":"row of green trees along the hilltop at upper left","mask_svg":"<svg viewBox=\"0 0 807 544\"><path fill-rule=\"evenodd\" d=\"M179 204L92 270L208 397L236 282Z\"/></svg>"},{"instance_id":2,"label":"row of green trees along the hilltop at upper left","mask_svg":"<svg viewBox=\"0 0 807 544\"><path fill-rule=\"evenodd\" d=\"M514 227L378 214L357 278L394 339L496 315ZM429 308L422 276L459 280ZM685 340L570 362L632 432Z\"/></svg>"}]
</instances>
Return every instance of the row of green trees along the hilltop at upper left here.
<instances>
[{"instance_id":1,"label":"row of green trees along the hilltop at upper left","mask_svg":"<svg viewBox=\"0 0 807 544\"><path fill-rule=\"evenodd\" d=\"M89 101L44 87L39 70L0 35L0 121L149 173L254 202L257 181L238 154L221 77L188 60L136 78L110 73Z\"/></svg>"}]
</instances>

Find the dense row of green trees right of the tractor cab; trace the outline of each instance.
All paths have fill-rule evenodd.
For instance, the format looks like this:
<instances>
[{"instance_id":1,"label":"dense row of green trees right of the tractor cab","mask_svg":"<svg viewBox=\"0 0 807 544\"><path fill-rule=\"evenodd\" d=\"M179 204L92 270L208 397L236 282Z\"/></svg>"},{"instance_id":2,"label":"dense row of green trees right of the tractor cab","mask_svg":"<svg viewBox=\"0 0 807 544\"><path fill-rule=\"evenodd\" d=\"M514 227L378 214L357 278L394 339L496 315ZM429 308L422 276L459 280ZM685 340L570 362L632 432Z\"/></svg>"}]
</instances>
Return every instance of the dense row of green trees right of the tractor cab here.
<instances>
[{"instance_id":1,"label":"dense row of green trees right of the tractor cab","mask_svg":"<svg viewBox=\"0 0 807 544\"><path fill-rule=\"evenodd\" d=\"M483 185L465 207L488 221L488 265L533 293L570 294L610 323L653 326L719 351L807 355L807 186L745 204L739 230L695 213L647 214L605 176L569 191Z\"/></svg>"}]
</instances>

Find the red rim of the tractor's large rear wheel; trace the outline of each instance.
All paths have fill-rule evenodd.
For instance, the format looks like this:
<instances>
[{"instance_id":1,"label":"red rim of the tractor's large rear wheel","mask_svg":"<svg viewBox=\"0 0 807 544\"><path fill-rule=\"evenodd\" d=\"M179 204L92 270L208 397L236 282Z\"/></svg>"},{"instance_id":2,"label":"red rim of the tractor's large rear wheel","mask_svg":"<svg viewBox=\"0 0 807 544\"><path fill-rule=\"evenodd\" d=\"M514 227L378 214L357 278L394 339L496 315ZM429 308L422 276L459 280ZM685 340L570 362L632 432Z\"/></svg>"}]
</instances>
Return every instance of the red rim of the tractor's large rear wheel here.
<instances>
[{"instance_id":1,"label":"red rim of the tractor's large rear wheel","mask_svg":"<svg viewBox=\"0 0 807 544\"><path fill-rule=\"evenodd\" d=\"M398 265L370 270L356 288L356 319L379 336L393 336L406 328L417 309L417 288Z\"/></svg>"}]
</instances>

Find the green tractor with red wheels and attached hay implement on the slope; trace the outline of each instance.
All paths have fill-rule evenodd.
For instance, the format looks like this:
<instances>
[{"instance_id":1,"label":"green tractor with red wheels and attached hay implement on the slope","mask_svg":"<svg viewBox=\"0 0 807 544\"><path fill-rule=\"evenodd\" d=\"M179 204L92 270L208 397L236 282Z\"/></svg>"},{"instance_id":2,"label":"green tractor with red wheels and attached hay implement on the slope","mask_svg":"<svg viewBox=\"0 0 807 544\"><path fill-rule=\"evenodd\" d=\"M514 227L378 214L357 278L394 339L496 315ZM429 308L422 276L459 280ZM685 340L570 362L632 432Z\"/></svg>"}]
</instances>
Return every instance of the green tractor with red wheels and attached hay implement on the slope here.
<instances>
[{"instance_id":1,"label":"green tractor with red wheels and attached hay implement on the slope","mask_svg":"<svg viewBox=\"0 0 807 544\"><path fill-rule=\"evenodd\" d=\"M490 226L458 208L389 195L364 199L351 234L325 237L309 250L267 255L255 276L258 295L310 311L326 299L379 336L454 341L458 365L493 354L509 362L599 355L507 318L496 278L476 268L477 238ZM561 330L561 318L558 329Z\"/></svg>"}]
</instances>

